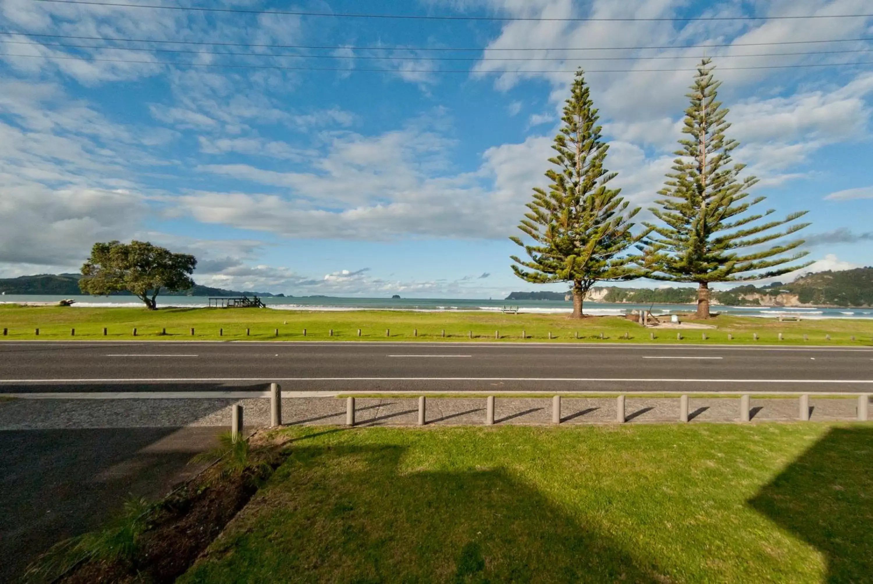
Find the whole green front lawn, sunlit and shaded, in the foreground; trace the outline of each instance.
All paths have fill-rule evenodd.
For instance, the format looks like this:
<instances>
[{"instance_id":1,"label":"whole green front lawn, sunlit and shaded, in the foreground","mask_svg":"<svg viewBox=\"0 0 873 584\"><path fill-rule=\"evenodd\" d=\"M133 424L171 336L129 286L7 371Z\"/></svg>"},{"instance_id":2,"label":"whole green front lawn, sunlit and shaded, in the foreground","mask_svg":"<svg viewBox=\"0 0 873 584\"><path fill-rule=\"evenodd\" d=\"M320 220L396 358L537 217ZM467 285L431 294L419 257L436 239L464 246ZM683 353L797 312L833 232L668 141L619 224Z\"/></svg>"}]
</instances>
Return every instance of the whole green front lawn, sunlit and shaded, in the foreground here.
<instances>
[{"instance_id":1,"label":"whole green front lawn, sunlit and shaded, in the foreground","mask_svg":"<svg viewBox=\"0 0 873 584\"><path fill-rule=\"evenodd\" d=\"M873 426L288 429L180 582L849 582Z\"/></svg>"}]
</instances>

